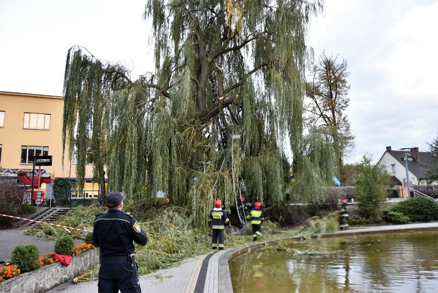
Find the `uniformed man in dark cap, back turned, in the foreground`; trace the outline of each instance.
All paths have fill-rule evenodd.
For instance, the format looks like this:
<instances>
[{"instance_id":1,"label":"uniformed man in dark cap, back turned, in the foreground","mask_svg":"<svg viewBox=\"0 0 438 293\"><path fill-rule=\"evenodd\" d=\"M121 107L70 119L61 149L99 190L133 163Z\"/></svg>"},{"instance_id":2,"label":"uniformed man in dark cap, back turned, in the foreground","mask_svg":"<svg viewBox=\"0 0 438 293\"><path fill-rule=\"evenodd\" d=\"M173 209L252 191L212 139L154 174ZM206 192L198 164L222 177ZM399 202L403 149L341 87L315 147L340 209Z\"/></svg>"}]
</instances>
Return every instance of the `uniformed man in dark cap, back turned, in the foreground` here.
<instances>
[{"instance_id":1,"label":"uniformed man in dark cap, back turned, in the foreground","mask_svg":"<svg viewBox=\"0 0 438 293\"><path fill-rule=\"evenodd\" d=\"M133 241L146 245L148 236L122 212L125 197L116 190L108 193L108 212L94 220L93 241L100 248L99 293L141 292Z\"/></svg>"}]
</instances>

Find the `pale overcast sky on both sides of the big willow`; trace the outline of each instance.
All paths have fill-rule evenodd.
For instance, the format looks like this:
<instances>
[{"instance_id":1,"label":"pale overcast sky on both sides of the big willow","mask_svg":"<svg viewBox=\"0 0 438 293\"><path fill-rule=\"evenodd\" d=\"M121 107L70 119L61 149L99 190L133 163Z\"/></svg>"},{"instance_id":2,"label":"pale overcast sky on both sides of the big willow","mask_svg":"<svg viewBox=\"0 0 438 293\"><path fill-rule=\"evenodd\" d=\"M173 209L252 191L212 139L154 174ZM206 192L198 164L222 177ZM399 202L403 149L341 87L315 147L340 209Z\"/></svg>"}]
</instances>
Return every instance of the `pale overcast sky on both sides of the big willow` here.
<instances>
[{"instance_id":1,"label":"pale overcast sky on both sides of the big willow","mask_svg":"<svg viewBox=\"0 0 438 293\"><path fill-rule=\"evenodd\" d=\"M146 0L0 0L0 91L62 95L67 50L122 62L131 79L153 71ZM326 0L309 45L350 65L346 110L356 149L376 160L438 133L438 0ZM1 108L1 105L0 105Z\"/></svg>"}]
</instances>

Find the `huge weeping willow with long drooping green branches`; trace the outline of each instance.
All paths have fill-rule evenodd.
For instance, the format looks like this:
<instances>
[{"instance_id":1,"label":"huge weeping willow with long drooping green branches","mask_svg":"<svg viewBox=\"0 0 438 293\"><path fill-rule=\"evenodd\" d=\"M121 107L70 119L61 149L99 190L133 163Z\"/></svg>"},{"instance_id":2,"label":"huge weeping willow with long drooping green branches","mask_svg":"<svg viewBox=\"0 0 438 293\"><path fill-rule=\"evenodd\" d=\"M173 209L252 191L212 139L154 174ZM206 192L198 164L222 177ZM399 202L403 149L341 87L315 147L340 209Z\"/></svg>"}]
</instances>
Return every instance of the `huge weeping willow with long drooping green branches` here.
<instances>
[{"instance_id":1,"label":"huge weeping willow with long drooping green branches","mask_svg":"<svg viewBox=\"0 0 438 293\"><path fill-rule=\"evenodd\" d=\"M196 224L205 224L214 198L232 204L242 184L247 200L280 203L285 153L296 162L303 153L304 68L312 57L305 41L321 3L148 0L154 74L132 81L118 64L69 51L70 153L76 143L79 158L92 145L110 189L152 198L162 191L191 206Z\"/></svg>"}]
</instances>

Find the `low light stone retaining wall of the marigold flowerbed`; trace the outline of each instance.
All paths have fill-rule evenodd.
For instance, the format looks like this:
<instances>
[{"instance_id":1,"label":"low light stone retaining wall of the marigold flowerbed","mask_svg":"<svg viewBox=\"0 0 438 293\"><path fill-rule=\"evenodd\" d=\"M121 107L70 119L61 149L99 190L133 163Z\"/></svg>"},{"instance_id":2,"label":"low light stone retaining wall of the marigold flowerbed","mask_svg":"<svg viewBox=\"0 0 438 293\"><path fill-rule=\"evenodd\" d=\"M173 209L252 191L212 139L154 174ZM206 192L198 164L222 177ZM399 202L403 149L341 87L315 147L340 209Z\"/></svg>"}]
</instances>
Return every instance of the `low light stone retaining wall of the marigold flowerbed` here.
<instances>
[{"instance_id":1,"label":"low light stone retaining wall of the marigold flowerbed","mask_svg":"<svg viewBox=\"0 0 438 293\"><path fill-rule=\"evenodd\" d=\"M43 293L92 269L98 262L99 249L93 249L74 256L68 266L57 262L0 282L0 292Z\"/></svg>"}]
</instances>

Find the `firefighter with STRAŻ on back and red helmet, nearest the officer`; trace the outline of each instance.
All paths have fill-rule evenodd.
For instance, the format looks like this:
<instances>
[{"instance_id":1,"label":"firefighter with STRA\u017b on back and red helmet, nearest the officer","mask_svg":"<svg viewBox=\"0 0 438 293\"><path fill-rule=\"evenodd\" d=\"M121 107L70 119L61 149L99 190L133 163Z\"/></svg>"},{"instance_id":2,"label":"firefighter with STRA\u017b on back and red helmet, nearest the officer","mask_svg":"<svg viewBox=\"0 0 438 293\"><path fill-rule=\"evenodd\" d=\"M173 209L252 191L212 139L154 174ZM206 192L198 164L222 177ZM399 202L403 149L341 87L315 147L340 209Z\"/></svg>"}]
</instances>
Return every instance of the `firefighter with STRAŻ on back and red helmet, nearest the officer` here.
<instances>
[{"instance_id":1,"label":"firefighter with STRA\u017b on back and red helmet, nearest the officer","mask_svg":"<svg viewBox=\"0 0 438 293\"><path fill-rule=\"evenodd\" d=\"M214 209L210 211L208 217L208 227L212 228L211 233L211 248L224 249L224 227L230 226L231 222L228 219L227 212L222 209L222 201L216 199Z\"/></svg>"}]
</instances>

